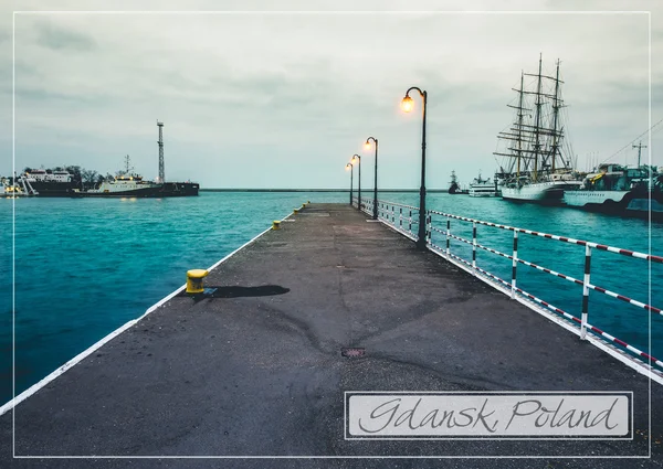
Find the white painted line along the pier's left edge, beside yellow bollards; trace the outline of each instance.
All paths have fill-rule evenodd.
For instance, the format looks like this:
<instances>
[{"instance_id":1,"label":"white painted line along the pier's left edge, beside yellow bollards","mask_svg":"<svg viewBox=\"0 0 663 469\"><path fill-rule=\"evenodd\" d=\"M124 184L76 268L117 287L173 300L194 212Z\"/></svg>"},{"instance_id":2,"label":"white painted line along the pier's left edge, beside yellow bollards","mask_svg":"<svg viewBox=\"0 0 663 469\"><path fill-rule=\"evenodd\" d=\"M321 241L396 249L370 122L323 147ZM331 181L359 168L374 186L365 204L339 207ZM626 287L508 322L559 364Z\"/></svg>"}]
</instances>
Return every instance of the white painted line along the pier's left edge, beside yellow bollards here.
<instances>
[{"instance_id":1,"label":"white painted line along the pier's left edge, beside yellow bollards","mask_svg":"<svg viewBox=\"0 0 663 469\"><path fill-rule=\"evenodd\" d=\"M287 216L285 216L283 218L281 218L281 221L282 222L286 221L286 218L290 217L291 215L292 214L290 214L290 215L287 215ZM208 268L208 270L212 270L212 269L217 268L219 265L221 265L222 263L224 263L225 260L228 260L230 257L234 256L236 253L239 253L240 251L242 251L243 248L245 248L246 246L249 246L250 244L252 244L253 242L255 242L259 237L261 237L262 235L264 235L265 233L267 233L271 230L272 230L272 227L269 227L267 230L265 230L262 233L260 233L257 236L254 236L251 241L244 243L243 245L241 245L240 247L238 247L235 251L233 251L232 253L230 253L228 256L225 256L221 260L219 260L217 264L214 264L213 266L211 266L210 268ZM120 333L123 333L124 331L126 331L127 329L129 329L130 327L135 326L138 321L140 321L141 319L144 319L147 315L149 315L150 312L154 312L157 308L164 306L167 301L169 301L170 299L172 299L173 297L176 297L186 287L187 287L186 284L182 285L181 287L179 287L177 290L175 290L170 295L166 296L165 298L160 299L159 301L157 301L156 303L154 303L152 306L150 306L145 311L145 313L143 316L140 316L139 318L136 318L136 319L131 319L130 321L128 321L125 324L120 326L119 328L117 328L116 330L114 330L113 332L110 332L108 335L104 337L102 340L99 340L98 342L94 343L93 345L91 345L90 348L87 348L86 350L84 350L83 352L78 353L76 356L74 356L70 361L67 361L65 364L63 364L62 366L60 366L57 370L55 370L54 372L50 373L49 375L46 375L45 377L43 377L42 380L40 380L38 383L33 384L32 386L30 386L29 388L27 388L25 391L23 391L21 394L19 394L18 396L15 396L13 399L11 399L8 403L6 403L4 405L2 405L2 407L0 407L0 415L3 415L8 411L11 411L18 404L22 403L28 397L30 397L31 395L33 395L34 393L36 393L39 390L41 390L42 387L44 387L46 384L49 384L50 382L52 382L53 380L55 380L57 376L62 375L65 371L67 371L72 366L74 366L76 363L80 363L83 359L85 359L86 356L88 356L92 353L94 353L95 351L97 351L99 348L102 348L103 345L105 345L106 343L108 343L110 340L115 339L117 335L119 335Z\"/></svg>"}]
</instances>

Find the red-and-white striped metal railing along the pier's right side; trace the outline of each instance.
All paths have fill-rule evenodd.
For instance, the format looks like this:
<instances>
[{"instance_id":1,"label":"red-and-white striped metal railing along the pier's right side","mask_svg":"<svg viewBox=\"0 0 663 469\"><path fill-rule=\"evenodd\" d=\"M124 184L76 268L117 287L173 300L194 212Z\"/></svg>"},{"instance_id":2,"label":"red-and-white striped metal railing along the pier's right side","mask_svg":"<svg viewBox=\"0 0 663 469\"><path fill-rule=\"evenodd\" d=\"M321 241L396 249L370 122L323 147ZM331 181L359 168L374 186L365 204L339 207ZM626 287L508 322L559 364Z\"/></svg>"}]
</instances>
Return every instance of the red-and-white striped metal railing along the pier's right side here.
<instances>
[{"instance_id":1,"label":"red-and-white striped metal railing along the pier's right side","mask_svg":"<svg viewBox=\"0 0 663 469\"><path fill-rule=\"evenodd\" d=\"M372 200L361 199L361 207L360 210L365 213L372 215ZM357 199L355 198L355 206L357 206ZM386 202L378 201L378 218L393 227L398 232L404 234L412 241L418 239L418 231L417 223L419 218L419 209L411 205L399 204L394 202ZM472 238L464 238L457 234L452 233L451 231L451 221L459 221L472 224ZM634 251L622 249L619 247L608 246L604 244L592 243L582 239L575 239L566 236L558 236L548 233L535 232L532 230L524 230L515 226L502 225L492 222L485 222L475 218L469 218L465 216L453 215L450 213L439 212L435 210L427 210L425 214L427 221L427 246L430 251L441 255L446 258L449 262L452 262L459 267L470 271L472 275L482 277L484 281L492 284L493 286L498 287L498 289L511 296L513 299L525 299L527 301L534 302L540 307L544 307L546 310L552 311L558 316L561 316L566 320L570 321L571 324L576 326L577 332L580 335L581 340L587 340L588 332L591 332L593 335L601 338L606 343L611 343L614 345L619 345L615 348L617 350L627 350L632 355L635 355L638 359L636 362L639 365L644 366L646 370L654 371L659 376L663 376L661 374L661 370L663 370L663 362L654 356L648 354L646 352L615 338L614 335L609 334L608 332L592 326L588 322L589 317L589 291L598 291L608 297L618 299L623 302L628 302L634 307L644 309L650 311L656 316L663 316L663 311L660 308L656 308L652 305L644 303L642 301L638 301L624 295L611 291L607 288L597 286L591 283L591 254L592 251L604 251L608 253L614 253L618 255L634 257L639 259L644 259L646 262L663 264L663 257L653 256L644 253L638 253ZM442 223L440 223L440 221ZM433 223L435 222L435 223ZM502 253L497 249L488 247L484 244L478 243L477 238L477 225L484 225L494 227L502 231L507 231L513 233L513 249L512 253ZM439 227L442 226L442 227ZM435 234L433 236L433 234ZM552 269L546 268L538 264L525 260L518 256L518 235L527 234L532 236L537 236L546 239L554 239L561 243L575 244L579 246L585 246L585 275L582 279L577 279L571 276L555 271ZM440 241L440 237L442 241ZM455 239L457 242L467 244L472 246L472 259L464 259L459 255L451 252L451 241ZM495 254L497 256L507 258L512 260L512 278L511 281L504 280L498 276L481 268L476 263L476 253L477 249L482 249L488 252L491 254ZM555 307L554 305L523 290L518 287L518 265L525 265L527 267L534 268L539 271L544 271L546 274L552 275L558 278L562 278L569 283L579 285L582 287L582 309L580 318L577 318L570 315L567 311L561 310L560 308ZM653 365L653 366L652 366Z\"/></svg>"}]
</instances>

